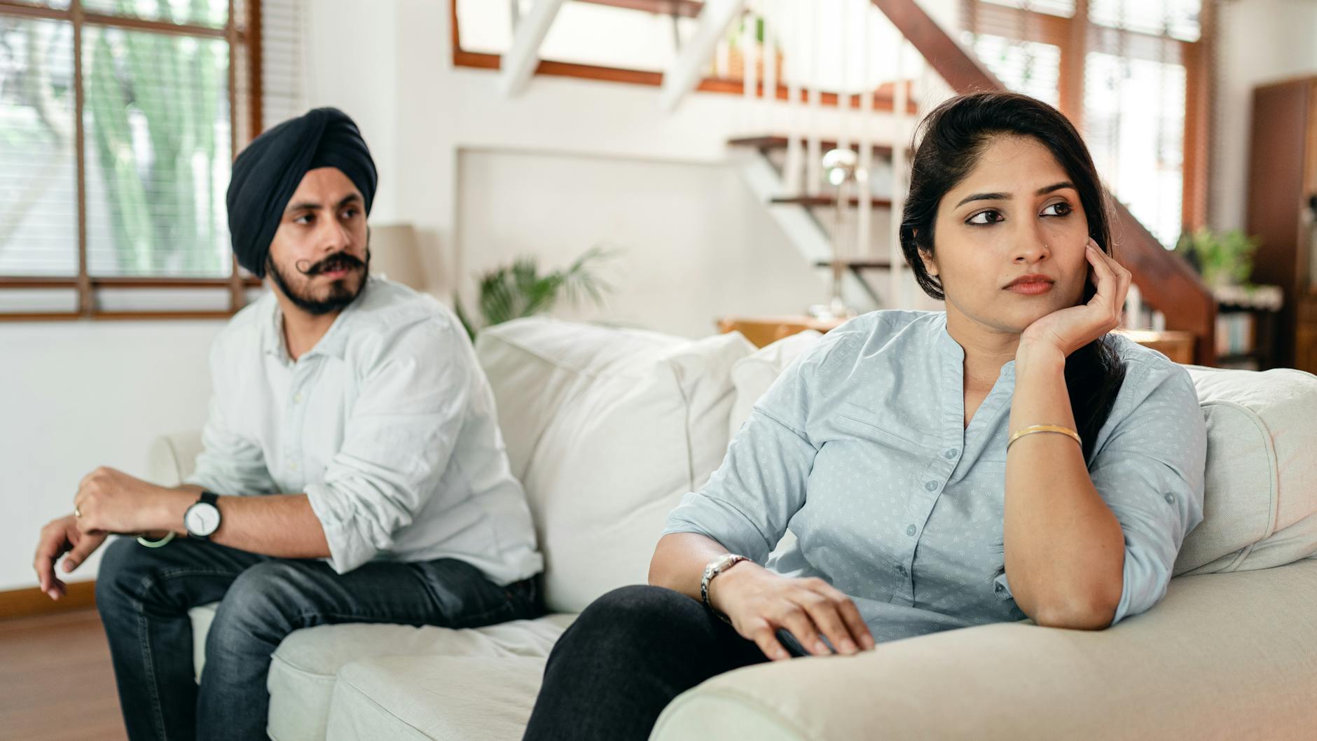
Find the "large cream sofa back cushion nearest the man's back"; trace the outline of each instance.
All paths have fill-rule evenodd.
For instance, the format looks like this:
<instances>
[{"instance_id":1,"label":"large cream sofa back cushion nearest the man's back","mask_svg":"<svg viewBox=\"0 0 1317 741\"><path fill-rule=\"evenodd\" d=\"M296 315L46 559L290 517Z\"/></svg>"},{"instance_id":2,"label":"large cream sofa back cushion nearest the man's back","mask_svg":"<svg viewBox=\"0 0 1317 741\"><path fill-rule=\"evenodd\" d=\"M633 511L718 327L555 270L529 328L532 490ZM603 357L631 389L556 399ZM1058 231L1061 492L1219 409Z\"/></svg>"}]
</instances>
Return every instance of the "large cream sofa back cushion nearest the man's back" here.
<instances>
[{"instance_id":1,"label":"large cream sofa back cushion nearest the man's back","mask_svg":"<svg viewBox=\"0 0 1317 741\"><path fill-rule=\"evenodd\" d=\"M731 367L752 350L739 333L682 341L539 317L481 334L549 609L645 582L668 512L722 462Z\"/></svg>"}]
</instances>

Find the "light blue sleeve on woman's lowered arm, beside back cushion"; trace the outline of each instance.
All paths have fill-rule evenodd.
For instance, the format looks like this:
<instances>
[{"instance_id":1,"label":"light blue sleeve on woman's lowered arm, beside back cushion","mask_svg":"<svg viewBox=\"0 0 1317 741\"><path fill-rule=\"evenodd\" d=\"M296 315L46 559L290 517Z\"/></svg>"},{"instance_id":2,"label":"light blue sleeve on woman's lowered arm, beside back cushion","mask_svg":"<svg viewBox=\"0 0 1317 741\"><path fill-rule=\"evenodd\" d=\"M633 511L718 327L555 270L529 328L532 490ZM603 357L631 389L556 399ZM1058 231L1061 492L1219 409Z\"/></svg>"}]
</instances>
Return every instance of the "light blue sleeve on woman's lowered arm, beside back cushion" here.
<instances>
[{"instance_id":1,"label":"light blue sleeve on woman's lowered arm, beside back cushion","mask_svg":"<svg viewBox=\"0 0 1317 741\"><path fill-rule=\"evenodd\" d=\"M824 338L782 371L755 403L714 475L668 515L662 534L698 533L759 563L768 559L805 504L818 453L806 433L810 390L831 345Z\"/></svg>"}]
</instances>

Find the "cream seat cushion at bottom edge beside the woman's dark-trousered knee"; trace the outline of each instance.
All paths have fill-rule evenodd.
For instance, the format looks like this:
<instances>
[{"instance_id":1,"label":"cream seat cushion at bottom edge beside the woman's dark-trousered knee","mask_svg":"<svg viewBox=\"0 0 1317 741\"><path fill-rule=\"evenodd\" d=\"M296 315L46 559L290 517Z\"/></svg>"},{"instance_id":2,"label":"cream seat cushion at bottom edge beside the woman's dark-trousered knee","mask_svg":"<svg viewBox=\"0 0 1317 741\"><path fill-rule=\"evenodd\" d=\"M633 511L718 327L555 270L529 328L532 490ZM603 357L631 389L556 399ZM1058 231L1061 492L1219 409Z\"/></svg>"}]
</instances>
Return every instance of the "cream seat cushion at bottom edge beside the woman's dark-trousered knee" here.
<instances>
[{"instance_id":1,"label":"cream seat cushion at bottom edge beside the woman's dark-trousered knee","mask_svg":"<svg viewBox=\"0 0 1317 741\"><path fill-rule=\"evenodd\" d=\"M544 658L383 657L342 667L328 741L518 741Z\"/></svg>"}]
</instances>

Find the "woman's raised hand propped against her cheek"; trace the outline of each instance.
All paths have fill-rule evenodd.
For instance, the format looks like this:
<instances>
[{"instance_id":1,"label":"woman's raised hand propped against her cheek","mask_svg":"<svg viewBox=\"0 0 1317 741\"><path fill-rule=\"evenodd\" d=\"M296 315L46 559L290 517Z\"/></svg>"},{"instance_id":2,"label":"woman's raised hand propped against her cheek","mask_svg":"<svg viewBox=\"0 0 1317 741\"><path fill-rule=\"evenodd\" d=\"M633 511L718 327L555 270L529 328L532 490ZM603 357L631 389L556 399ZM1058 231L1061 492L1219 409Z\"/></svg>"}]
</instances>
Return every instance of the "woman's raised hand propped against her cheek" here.
<instances>
[{"instance_id":1,"label":"woman's raised hand propped against her cheek","mask_svg":"<svg viewBox=\"0 0 1317 741\"><path fill-rule=\"evenodd\" d=\"M1089 238L1084 253L1089 262L1089 279L1097 284L1097 294L1083 305L1068 307L1042 316L1025 328L1019 347L1055 347L1062 357L1088 345L1121 325L1121 309L1130 290L1130 271L1104 253Z\"/></svg>"}]
</instances>

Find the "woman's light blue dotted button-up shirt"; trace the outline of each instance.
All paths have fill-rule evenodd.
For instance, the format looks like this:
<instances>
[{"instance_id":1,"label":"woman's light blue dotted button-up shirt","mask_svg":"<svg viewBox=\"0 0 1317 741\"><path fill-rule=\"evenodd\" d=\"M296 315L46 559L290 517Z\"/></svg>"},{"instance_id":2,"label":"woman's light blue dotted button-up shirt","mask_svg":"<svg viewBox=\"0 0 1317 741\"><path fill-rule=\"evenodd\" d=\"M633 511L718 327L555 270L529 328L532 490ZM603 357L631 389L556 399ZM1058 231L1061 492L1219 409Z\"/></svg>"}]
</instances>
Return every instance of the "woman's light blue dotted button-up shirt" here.
<instances>
[{"instance_id":1,"label":"woman's light blue dotted button-up shirt","mask_svg":"<svg viewBox=\"0 0 1317 741\"><path fill-rule=\"evenodd\" d=\"M1206 425L1183 366L1113 341L1125 383L1088 470L1125 532L1114 624L1162 599L1202 521ZM788 366L664 533L699 533L780 574L827 580L878 641L1025 619L1002 571L1015 362L968 428L963 374L946 312L847 322ZM774 551L788 529L795 542Z\"/></svg>"}]
</instances>

